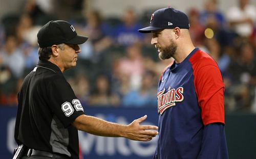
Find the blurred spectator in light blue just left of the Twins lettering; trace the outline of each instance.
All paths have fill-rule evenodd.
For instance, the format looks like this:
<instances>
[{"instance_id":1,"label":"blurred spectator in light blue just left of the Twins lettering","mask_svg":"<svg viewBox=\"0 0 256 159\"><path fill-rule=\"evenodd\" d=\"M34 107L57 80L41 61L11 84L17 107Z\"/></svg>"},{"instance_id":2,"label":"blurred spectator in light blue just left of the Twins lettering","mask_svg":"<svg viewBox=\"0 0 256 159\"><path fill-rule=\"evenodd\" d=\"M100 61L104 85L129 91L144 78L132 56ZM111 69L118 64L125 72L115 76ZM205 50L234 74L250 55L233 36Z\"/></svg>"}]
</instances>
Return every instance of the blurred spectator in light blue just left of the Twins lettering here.
<instances>
[{"instance_id":1,"label":"blurred spectator in light blue just left of the Twins lettering","mask_svg":"<svg viewBox=\"0 0 256 159\"><path fill-rule=\"evenodd\" d=\"M146 71L143 74L141 87L127 92L122 98L123 107L156 107L157 106L157 88L154 87L155 74Z\"/></svg>"}]
</instances>

